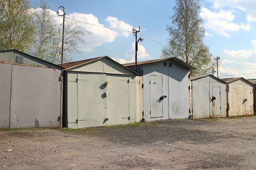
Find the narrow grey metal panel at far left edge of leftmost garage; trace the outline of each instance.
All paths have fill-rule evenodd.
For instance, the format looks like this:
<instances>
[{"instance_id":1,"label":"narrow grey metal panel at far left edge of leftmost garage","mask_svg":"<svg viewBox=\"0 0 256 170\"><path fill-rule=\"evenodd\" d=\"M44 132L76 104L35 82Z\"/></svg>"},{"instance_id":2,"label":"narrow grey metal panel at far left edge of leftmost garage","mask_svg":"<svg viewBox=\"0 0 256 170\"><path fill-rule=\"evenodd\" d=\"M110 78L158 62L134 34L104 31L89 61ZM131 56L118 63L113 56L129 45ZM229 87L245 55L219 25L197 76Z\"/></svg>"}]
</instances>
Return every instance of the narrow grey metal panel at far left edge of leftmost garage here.
<instances>
[{"instance_id":1,"label":"narrow grey metal panel at far left edge of leftmost garage","mask_svg":"<svg viewBox=\"0 0 256 170\"><path fill-rule=\"evenodd\" d=\"M0 129L10 128L12 65L0 64Z\"/></svg>"}]
</instances>

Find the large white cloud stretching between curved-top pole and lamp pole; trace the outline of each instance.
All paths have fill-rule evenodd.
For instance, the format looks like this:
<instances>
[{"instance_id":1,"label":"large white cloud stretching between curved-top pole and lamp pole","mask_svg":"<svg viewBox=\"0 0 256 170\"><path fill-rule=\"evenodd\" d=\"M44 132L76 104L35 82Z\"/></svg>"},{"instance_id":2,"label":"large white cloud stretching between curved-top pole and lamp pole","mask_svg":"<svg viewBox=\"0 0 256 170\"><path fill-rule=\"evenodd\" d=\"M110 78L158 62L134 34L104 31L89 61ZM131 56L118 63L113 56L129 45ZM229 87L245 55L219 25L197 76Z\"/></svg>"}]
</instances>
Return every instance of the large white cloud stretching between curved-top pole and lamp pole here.
<instances>
[{"instance_id":1,"label":"large white cloud stretching between curved-top pole and lamp pole","mask_svg":"<svg viewBox=\"0 0 256 170\"><path fill-rule=\"evenodd\" d=\"M31 9L31 11L40 11L40 8ZM50 14L52 16L57 16L56 11L49 10ZM62 17L53 17L55 22L58 24L62 24L63 18ZM114 42L115 39L118 36L128 37L128 32L119 32L117 30L110 30L107 29L105 25L99 22L98 17L95 17L93 14L82 14L82 13L70 13L66 15L66 21L71 19L76 19L82 22L90 23L90 24L84 24L81 22L78 22L77 25L79 25L81 28L83 28L85 31L92 33L84 34L83 39L85 40L85 46L79 45L79 50L81 51L87 51L92 52L94 47L100 46L104 43L111 43ZM125 23L124 21L118 20L116 17L107 17L105 21L110 24L110 28L114 29L120 29L120 30L128 30L132 31L132 26Z\"/></svg>"}]
</instances>

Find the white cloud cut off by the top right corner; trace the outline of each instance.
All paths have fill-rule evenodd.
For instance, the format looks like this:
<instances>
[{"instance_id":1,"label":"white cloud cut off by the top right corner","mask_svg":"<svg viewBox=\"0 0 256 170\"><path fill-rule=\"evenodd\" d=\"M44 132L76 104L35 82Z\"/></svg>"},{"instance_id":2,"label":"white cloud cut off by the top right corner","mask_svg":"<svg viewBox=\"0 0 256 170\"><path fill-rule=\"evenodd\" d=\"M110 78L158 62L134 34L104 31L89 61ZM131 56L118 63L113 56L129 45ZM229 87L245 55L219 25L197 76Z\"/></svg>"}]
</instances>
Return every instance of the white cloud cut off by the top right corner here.
<instances>
[{"instance_id":1,"label":"white cloud cut off by the top right corner","mask_svg":"<svg viewBox=\"0 0 256 170\"><path fill-rule=\"evenodd\" d=\"M246 14L248 22L256 21L256 3L255 0L212 0L214 7L219 9L225 6L239 9Z\"/></svg>"}]
</instances>

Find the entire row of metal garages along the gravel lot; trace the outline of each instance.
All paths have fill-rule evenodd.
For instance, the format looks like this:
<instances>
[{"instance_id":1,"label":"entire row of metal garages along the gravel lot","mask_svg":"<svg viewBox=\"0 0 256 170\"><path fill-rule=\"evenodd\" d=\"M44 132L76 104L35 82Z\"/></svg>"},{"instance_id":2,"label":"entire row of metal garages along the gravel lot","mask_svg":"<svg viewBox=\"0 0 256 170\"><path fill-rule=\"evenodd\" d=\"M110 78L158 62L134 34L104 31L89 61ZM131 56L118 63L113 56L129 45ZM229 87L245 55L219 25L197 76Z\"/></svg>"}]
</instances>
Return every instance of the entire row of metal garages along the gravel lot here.
<instances>
[{"instance_id":1,"label":"entire row of metal garages along the gravel lot","mask_svg":"<svg viewBox=\"0 0 256 170\"><path fill-rule=\"evenodd\" d=\"M159 119L253 114L243 78L190 77L172 57L121 65L108 56L63 67L0 51L0 128L86 128Z\"/></svg>"}]
</instances>

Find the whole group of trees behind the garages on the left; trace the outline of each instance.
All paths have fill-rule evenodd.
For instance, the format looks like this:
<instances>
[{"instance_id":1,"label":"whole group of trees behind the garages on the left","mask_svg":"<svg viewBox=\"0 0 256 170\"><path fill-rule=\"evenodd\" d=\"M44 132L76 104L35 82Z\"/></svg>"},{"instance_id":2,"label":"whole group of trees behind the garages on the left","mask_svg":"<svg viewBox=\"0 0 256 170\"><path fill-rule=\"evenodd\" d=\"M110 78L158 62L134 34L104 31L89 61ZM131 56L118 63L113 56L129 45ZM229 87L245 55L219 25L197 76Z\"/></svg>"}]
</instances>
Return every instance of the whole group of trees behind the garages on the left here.
<instances>
[{"instance_id":1,"label":"whole group of trees behind the garages on the left","mask_svg":"<svg viewBox=\"0 0 256 170\"><path fill-rule=\"evenodd\" d=\"M15 49L60 64L63 19L56 22L45 1L32 9L29 0L0 0L0 14L0 50ZM65 19L63 63L79 53L84 33L77 21Z\"/></svg>"}]
</instances>

